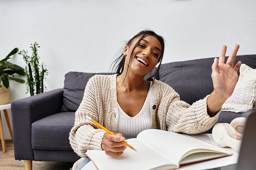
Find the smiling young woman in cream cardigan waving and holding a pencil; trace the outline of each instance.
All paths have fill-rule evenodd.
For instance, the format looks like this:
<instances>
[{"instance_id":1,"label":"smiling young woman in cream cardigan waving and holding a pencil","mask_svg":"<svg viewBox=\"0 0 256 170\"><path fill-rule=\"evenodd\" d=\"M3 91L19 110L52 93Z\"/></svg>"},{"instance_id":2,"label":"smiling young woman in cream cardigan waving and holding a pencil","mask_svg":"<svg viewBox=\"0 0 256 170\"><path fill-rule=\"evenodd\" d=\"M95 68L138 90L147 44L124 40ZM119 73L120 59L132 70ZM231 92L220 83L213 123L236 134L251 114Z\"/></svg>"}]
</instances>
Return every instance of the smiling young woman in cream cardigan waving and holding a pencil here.
<instances>
[{"instance_id":1,"label":"smiling young woman in cream cardigan waving and holding a pencil","mask_svg":"<svg viewBox=\"0 0 256 170\"><path fill-rule=\"evenodd\" d=\"M234 46L224 63L226 46L222 47L219 59L216 58L212 64L214 91L189 105L180 101L178 93L167 84L154 79L144 80L145 75L158 63L159 69L164 40L150 30L135 35L114 64L117 65L117 74L95 75L87 83L83 100L76 111L75 125L70 132L73 150L83 157L74 164L73 169L80 169L90 161L85 154L88 149L105 150L110 156L121 155L126 145L120 141L136 137L145 129L186 134L210 129L238 81L237 71L241 62L234 66L238 48L239 45ZM86 115L117 135L110 135L98 128Z\"/></svg>"}]
</instances>

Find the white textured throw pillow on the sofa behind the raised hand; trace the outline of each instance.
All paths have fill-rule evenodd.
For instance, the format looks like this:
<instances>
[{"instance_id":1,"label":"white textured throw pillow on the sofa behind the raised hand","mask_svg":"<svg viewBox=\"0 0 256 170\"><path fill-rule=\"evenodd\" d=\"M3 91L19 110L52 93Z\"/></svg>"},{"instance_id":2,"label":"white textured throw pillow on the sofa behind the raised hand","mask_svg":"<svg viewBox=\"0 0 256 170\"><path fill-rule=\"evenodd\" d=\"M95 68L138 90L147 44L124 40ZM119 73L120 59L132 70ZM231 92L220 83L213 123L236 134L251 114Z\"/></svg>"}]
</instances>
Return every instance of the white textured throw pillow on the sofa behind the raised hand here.
<instances>
[{"instance_id":1,"label":"white textured throw pillow on the sofa behind the raised hand","mask_svg":"<svg viewBox=\"0 0 256 170\"><path fill-rule=\"evenodd\" d=\"M223 111L245 112L252 109L256 98L256 80L237 82L232 95L222 105Z\"/></svg>"}]
</instances>

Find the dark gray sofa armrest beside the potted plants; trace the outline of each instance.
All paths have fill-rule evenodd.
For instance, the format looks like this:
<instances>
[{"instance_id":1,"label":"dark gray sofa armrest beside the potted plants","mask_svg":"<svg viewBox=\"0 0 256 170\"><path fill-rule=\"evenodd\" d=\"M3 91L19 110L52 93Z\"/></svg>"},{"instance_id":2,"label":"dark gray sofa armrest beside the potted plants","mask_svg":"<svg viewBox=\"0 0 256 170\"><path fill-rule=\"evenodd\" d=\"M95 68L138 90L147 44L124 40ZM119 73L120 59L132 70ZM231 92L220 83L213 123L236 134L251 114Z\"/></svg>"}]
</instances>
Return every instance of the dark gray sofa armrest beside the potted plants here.
<instances>
[{"instance_id":1,"label":"dark gray sofa armrest beside the potted plants","mask_svg":"<svg viewBox=\"0 0 256 170\"><path fill-rule=\"evenodd\" d=\"M60 112L63 89L19 99L11 103L15 159L34 160L31 125L38 119Z\"/></svg>"}]
</instances>

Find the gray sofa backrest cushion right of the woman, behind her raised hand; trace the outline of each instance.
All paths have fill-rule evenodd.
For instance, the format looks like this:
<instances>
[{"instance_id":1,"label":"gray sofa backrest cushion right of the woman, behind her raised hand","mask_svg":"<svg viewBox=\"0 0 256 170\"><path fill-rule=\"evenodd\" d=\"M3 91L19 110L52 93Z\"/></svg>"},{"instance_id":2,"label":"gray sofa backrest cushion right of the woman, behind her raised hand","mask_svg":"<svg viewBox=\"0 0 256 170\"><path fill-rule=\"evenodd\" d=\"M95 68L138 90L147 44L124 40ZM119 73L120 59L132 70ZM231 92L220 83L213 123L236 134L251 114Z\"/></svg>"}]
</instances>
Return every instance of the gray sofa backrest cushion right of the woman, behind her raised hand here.
<instances>
[{"instance_id":1,"label":"gray sofa backrest cushion right of the woman, behind her raised hand","mask_svg":"<svg viewBox=\"0 0 256 170\"><path fill-rule=\"evenodd\" d=\"M237 56L235 63L238 61L256 68L256 55ZM213 62L214 58L205 58L162 64L158 78L174 88L181 100L191 105L214 90L211 80Z\"/></svg>"}]
</instances>

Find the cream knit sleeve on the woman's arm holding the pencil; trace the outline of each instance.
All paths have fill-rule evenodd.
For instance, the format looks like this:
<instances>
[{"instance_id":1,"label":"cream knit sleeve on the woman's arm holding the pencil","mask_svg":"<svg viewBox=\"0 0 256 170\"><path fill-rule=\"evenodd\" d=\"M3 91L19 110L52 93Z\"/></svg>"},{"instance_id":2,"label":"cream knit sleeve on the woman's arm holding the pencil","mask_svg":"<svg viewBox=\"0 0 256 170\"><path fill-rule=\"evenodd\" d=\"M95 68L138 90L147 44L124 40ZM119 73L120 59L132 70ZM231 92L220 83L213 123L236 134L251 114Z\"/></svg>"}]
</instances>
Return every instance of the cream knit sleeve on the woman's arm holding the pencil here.
<instances>
[{"instance_id":1,"label":"cream knit sleeve on the woman's arm holding the pencil","mask_svg":"<svg viewBox=\"0 0 256 170\"><path fill-rule=\"evenodd\" d=\"M98 110L95 96L97 95L97 80L92 77L84 90L82 102L75 112L75 125L71 129L69 140L72 149L80 156L87 157L87 150L102 150L101 141L105 133L86 118L89 115L98 121Z\"/></svg>"}]
</instances>

